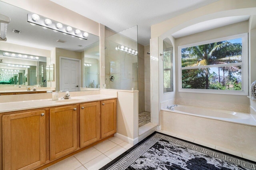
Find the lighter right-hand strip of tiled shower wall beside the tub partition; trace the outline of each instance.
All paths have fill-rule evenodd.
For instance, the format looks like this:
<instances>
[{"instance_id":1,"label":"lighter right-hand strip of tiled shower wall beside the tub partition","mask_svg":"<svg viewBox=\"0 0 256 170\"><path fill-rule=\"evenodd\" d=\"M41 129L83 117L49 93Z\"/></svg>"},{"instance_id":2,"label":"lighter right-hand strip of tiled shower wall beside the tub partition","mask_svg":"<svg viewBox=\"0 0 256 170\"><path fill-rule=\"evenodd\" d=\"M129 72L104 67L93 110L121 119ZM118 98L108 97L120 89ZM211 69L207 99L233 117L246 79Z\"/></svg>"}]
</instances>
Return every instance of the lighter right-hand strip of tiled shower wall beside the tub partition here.
<instances>
[{"instance_id":1,"label":"lighter right-hand strip of tiled shower wall beside the tub partition","mask_svg":"<svg viewBox=\"0 0 256 170\"><path fill-rule=\"evenodd\" d=\"M145 111L150 112L150 45L144 46Z\"/></svg>"}]
</instances>

